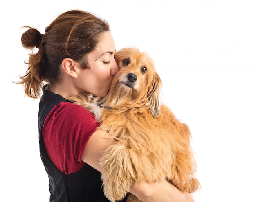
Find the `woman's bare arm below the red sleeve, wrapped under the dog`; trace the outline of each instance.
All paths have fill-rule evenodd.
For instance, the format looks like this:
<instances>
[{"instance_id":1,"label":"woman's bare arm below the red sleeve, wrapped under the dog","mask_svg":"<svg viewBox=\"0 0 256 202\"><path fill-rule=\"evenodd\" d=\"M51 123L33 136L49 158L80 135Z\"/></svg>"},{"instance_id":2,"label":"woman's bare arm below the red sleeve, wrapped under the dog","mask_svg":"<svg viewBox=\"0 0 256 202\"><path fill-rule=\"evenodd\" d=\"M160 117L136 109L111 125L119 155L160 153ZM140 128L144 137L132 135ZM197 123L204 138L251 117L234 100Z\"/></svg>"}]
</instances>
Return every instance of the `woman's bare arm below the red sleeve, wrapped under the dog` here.
<instances>
[{"instance_id":1,"label":"woman's bare arm below the red sleeve, wrapped under the dog","mask_svg":"<svg viewBox=\"0 0 256 202\"><path fill-rule=\"evenodd\" d=\"M101 152L115 143L114 139L104 137L103 130L96 130L90 137L82 155L83 162L88 163L101 172L99 159ZM130 187L130 193L136 195L143 202L194 202L189 193L182 193L167 181L158 183L140 182Z\"/></svg>"}]
</instances>

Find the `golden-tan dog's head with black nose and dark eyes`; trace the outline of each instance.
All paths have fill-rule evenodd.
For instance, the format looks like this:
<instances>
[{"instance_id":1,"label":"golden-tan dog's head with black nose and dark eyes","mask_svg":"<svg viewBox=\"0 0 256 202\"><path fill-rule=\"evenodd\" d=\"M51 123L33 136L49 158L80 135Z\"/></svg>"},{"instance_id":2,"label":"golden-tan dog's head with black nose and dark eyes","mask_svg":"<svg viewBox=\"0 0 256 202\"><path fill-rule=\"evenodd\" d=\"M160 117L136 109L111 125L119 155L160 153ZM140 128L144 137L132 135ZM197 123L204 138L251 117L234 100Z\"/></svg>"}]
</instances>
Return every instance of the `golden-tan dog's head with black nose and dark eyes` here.
<instances>
[{"instance_id":1,"label":"golden-tan dog's head with black nose and dark eyes","mask_svg":"<svg viewBox=\"0 0 256 202\"><path fill-rule=\"evenodd\" d=\"M115 60L120 71L110 88L111 101L149 105L152 116L159 116L162 81L151 57L137 48L123 48L115 53Z\"/></svg>"}]
</instances>

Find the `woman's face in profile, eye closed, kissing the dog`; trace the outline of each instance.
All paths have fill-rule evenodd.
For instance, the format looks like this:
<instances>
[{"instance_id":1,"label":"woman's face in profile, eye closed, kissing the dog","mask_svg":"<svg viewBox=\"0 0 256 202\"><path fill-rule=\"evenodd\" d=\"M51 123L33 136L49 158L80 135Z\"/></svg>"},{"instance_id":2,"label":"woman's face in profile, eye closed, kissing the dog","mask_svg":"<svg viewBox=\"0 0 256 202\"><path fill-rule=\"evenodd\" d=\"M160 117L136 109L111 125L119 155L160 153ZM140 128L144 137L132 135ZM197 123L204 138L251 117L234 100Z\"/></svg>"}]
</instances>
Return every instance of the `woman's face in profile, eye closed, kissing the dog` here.
<instances>
[{"instance_id":1,"label":"woman's face in profile, eye closed, kissing the dog","mask_svg":"<svg viewBox=\"0 0 256 202\"><path fill-rule=\"evenodd\" d=\"M109 31L103 34L94 51L87 54L88 68L79 71L76 85L81 92L105 97L119 67L114 59L115 43Z\"/></svg>"}]
</instances>

